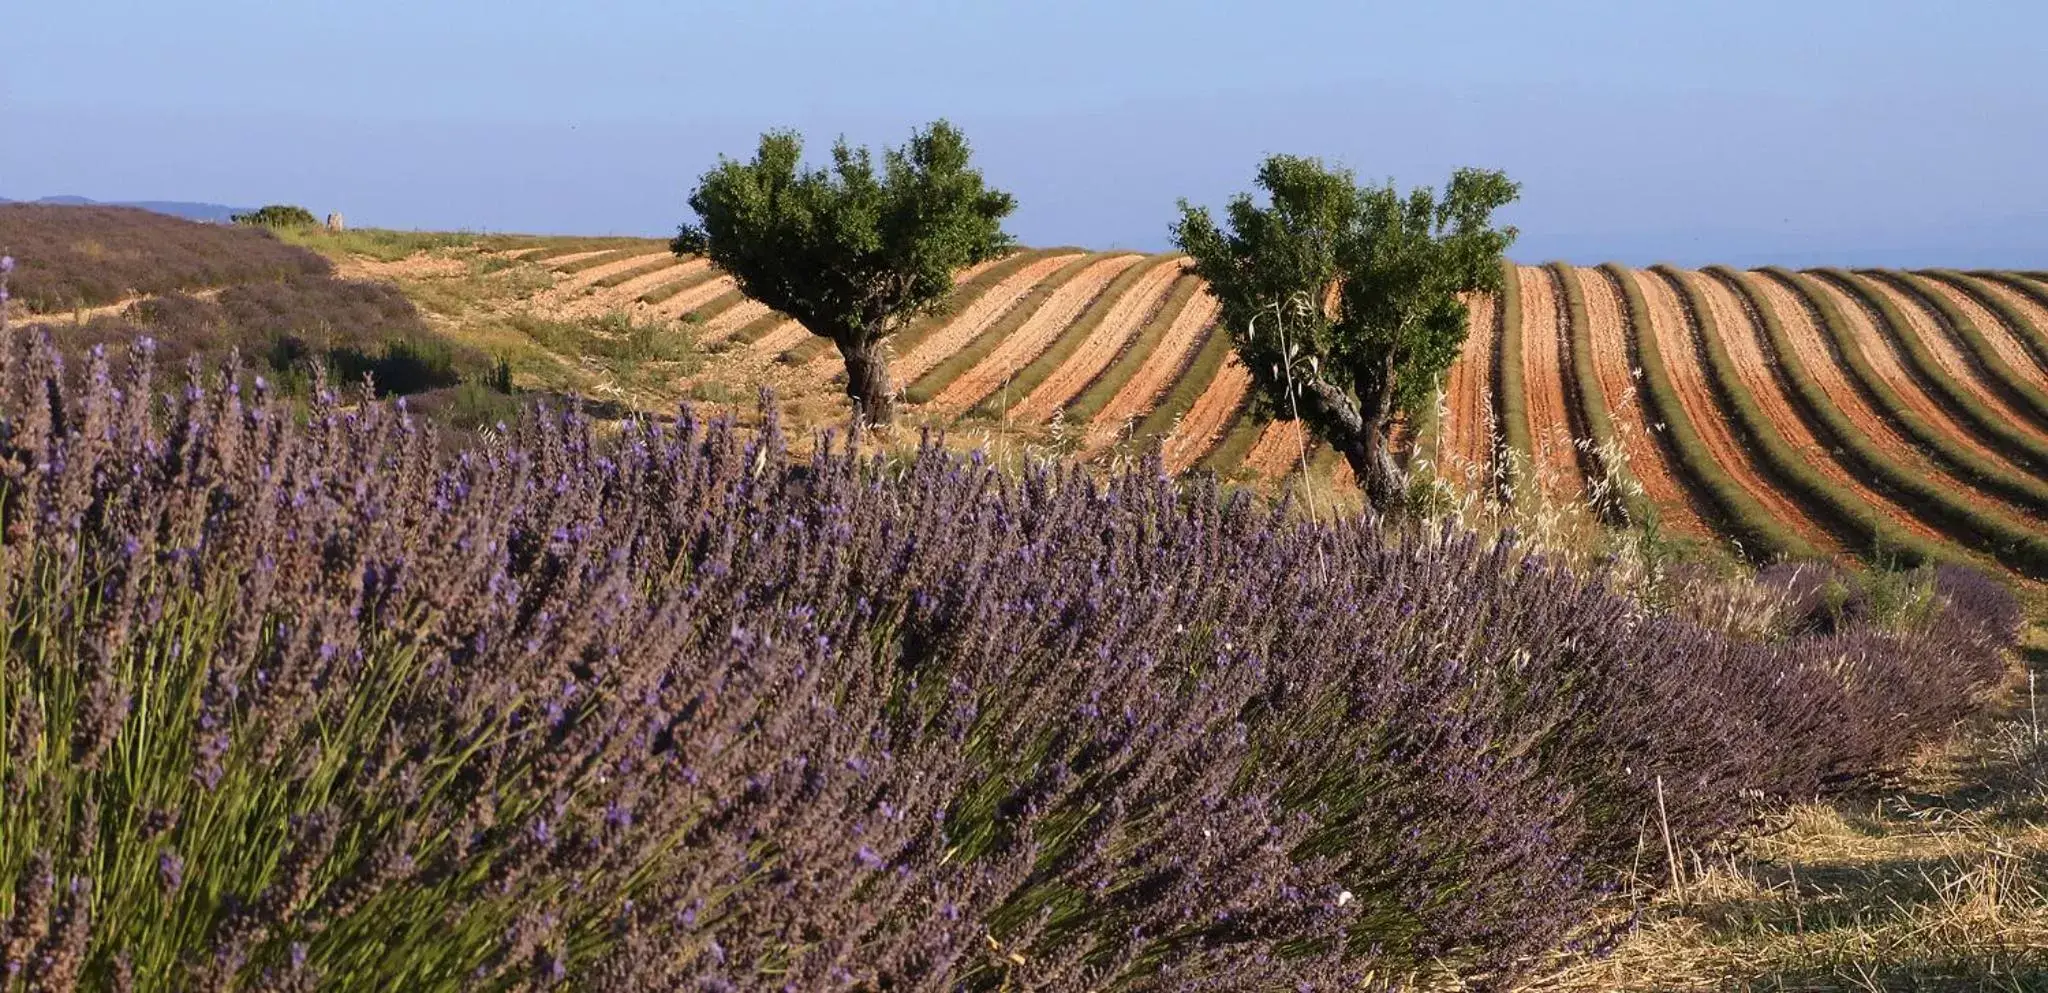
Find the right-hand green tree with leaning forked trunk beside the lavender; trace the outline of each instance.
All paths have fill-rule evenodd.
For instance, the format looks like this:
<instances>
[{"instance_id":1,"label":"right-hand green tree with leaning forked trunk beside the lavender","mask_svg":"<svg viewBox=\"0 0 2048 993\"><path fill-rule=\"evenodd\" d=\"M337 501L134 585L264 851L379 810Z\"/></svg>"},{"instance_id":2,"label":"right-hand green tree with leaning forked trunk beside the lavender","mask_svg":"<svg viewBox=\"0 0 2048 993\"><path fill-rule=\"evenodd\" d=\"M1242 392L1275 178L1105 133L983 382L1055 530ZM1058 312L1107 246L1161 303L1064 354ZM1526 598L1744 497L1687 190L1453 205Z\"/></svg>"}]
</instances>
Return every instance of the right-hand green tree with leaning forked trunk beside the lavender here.
<instances>
[{"instance_id":1,"label":"right-hand green tree with leaning forked trunk beside the lavender","mask_svg":"<svg viewBox=\"0 0 2048 993\"><path fill-rule=\"evenodd\" d=\"M1237 356L1276 418L1303 420L1391 510L1407 477L1389 436L1417 414L1464 344L1460 293L1497 291L1513 227L1493 211L1520 186L1458 170L1444 195L1360 186L1321 160L1272 156L1257 172L1270 205L1231 199L1229 231L1180 203L1174 242L1223 303Z\"/></svg>"}]
</instances>

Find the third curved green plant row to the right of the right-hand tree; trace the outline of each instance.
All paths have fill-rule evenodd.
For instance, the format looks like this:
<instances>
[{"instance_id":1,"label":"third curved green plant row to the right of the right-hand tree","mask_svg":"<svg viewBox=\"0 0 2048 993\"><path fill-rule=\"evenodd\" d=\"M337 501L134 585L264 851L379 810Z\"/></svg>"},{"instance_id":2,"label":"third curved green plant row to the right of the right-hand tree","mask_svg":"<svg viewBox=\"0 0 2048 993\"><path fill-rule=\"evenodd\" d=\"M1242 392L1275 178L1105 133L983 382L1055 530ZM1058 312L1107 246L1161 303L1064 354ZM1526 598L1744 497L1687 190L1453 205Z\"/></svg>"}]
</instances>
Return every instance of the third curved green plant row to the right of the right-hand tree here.
<instances>
[{"instance_id":1,"label":"third curved green plant row to the right of the right-hand tree","mask_svg":"<svg viewBox=\"0 0 2048 993\"><path fill-rule=\"evenodd\" d=\"M1743 489L1735 477L1714 459L1714 452L1700 440L1686 414L1686 403L1671 385L1671 369L1665 364L1663 348L1657 344L1657 330L1651 323L1651 307L1642 299L1642 287L1620 262L1608 262L1614 283L1622 289L1622 303L1628 307L1628 328L1636 336L1636 354L1642 356L1642 399L1651 414L1665 426L1671 442L1671 457L1686 479L1706 493L1708 504L1720 514L1722 532L1731 534L1741 551L1751 559L1819 559L1821 551L1794 534L1778 516L1763 508L1755 495Z\"/></svg>"}]
</instances>

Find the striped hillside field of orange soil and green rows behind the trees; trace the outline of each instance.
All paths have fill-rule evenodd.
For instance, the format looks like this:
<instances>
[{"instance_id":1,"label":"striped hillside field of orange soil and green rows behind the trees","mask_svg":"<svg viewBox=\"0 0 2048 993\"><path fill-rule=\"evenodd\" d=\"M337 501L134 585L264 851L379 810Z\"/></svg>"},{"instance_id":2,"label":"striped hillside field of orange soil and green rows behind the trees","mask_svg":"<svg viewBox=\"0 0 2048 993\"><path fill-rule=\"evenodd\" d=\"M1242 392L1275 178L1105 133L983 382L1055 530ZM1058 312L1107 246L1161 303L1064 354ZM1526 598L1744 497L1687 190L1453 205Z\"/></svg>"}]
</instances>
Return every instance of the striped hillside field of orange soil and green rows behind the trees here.
<instances>
[{"instance_id":1,"label":"striped hillside field of orange soil and green rows behind the trees","mask_svg":"<svg viewBox=\"0 0 2048 993\"><path fill-rule=\"evenodd\" d=\"M299 235L395 283L520 391L748 416L848 405L829 342L655 240ZM2048 577L2048 280L2038 272L1513 266L1405 457L1513 506L1655 518L1751 557L1972 561ZM203 289L203 287L190 287ZM16 319L23 315L16 313ZM1004 457L1161 452L1356 500L1276 426L1180 256L1024 250L901 332L903 422ZM471 412L473 414L473 412Z\"/></svg>"}]
</instances>

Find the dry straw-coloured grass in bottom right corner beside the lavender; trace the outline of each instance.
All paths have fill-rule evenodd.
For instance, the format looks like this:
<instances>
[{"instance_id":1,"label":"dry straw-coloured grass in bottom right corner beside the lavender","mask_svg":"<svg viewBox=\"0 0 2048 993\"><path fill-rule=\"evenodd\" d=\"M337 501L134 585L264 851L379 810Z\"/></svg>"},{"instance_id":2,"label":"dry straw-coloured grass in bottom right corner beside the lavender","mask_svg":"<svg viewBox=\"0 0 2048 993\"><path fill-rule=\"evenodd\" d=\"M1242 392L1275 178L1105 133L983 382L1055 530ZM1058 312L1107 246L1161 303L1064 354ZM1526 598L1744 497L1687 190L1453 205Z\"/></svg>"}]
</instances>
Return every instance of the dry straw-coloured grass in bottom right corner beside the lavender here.
<instances>
[{"instance_id":1,"label":"dry straw-coloured grass in bottom right corner beside the lavender","mask_svg":"<svg viewBox=\"0 0 2048 993\"><path fill-rule=\"evenodd\" d=\"M2023 655L2048 690L2048 631ZM2048 989L2048 731L2023 678L1898 782L1802 805L1683 887L1630 895L1606 958L1526 993ZM1649 882L1649 880L1645 880Z\"/></svg>"}]
</instances>

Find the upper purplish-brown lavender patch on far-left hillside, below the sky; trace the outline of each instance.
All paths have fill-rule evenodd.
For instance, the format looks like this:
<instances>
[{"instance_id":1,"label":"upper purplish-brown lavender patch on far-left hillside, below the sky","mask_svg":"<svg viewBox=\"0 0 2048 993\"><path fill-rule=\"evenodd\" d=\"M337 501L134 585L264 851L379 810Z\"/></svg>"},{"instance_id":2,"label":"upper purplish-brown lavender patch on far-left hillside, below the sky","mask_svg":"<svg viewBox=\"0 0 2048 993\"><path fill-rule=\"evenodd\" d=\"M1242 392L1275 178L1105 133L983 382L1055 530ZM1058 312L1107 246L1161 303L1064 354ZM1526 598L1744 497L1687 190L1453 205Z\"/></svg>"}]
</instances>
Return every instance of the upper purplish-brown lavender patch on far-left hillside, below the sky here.
<instances>
[{"instance_id":1,"label":"upper purplish-brown lavender patch on far-left hillside, below the sky","mask_svg":"<svg viewBox=\"0 0 2048 993\"><path fill-rule=\"evenodd\" d=\"M334 272L317 252L287 246L262 227L197 223L135 207L0 205L0 254L18 260L14 299L41 313Z\"/></svg>"}]
</instances>

